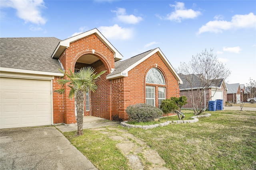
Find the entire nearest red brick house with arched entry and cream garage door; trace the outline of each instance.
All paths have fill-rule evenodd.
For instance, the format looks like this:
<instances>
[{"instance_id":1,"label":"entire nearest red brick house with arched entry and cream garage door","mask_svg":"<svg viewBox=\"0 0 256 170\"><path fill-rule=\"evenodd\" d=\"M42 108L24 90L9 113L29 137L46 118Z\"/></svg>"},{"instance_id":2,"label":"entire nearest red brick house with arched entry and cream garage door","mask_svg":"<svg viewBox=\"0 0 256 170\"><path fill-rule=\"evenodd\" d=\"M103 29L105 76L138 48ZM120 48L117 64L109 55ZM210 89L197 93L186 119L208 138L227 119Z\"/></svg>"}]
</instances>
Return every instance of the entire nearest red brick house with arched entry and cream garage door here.
<instances>
[{"instance_id":1,"label":"entire nearest red brick house with arched entry and cream garage door","mask_svg":"<svg viewBox=\"0 0 256 170\"><path fill-rule=\"evenodd\" d=\"M57 80L58 68L73 72L92 66L106 70L96 80L95 93L86 93L84 115L127 120L126 107L179 97L182 80L159 48L130 59L92 29L61 41L54 37L1 38L0 128L76 123L74 98L68 98Z\"/></svg>"}]
</instances>

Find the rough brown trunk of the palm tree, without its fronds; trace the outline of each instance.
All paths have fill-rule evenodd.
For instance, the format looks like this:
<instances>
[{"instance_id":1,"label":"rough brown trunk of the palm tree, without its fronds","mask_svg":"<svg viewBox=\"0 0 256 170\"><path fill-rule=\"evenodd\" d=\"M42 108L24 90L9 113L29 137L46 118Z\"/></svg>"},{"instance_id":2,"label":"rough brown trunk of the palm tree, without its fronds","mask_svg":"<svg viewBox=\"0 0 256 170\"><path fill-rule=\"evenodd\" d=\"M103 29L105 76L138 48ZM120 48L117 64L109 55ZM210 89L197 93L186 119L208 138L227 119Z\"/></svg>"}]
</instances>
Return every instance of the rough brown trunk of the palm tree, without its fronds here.
<instances>
[{"instance_id":1,"label":"rough brown trunk of the palm tree, without its fronds","mask_svg":"<svg viewBox=\"0 0 256 170\"><path fill-rule=\"evenodd\" d=\"M76 92L76 113L77 113L77 135L83 135L83 113L84 113L84 93L82 90Z\"/></svg>"}]
</instances>

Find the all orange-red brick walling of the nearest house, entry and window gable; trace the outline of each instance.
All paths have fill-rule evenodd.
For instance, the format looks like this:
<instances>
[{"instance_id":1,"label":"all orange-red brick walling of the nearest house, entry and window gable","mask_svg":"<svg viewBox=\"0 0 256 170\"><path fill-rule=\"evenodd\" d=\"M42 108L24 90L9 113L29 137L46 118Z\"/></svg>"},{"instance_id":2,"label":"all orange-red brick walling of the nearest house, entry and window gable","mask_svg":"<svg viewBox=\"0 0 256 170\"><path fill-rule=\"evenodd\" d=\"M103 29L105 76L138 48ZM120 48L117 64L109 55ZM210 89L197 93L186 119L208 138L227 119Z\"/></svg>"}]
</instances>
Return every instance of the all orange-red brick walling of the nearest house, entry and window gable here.
<instances>
[{"instance_id":1,"label":"all orange-red brick walling of the nearest house, entry and window gable","mask_svg":"<svg viewBox=\"0 0 256 170\"><path fill-rule=\"evenodd\" d=\"M92 54L92 49L95 53ZM76 63L83 55L90 54L98 57L100 60L92 64ZM171 96L179 97L178 81L169 70L160 56L155 53L144 62L138 64L128 72L128 77L107 80L106 75L114 68L114 53L96 36L89 35L70 43L70 47L65 49L59 58L65 70L84 66L92 66L97 73L106 70L100 78L96 80L98 89L95 93L90 93L90 111L85 115L93 115L113 120L127 120L128 115L125 112L126 107L146 102L145 89L147 86L156 87L156 107L158 106L158 86L159 84L146 84L146 74L150 68L156 67L164 75L166 81L166 98ZM54 90L61 86L54 81ZM54 123L76 123L74 99L69 99L70 88L65 86L65 94L54 94ZM56 101L55 101L56 100ZM84 108L85 109L85 108Z\"/></svg>"}]
</instances>

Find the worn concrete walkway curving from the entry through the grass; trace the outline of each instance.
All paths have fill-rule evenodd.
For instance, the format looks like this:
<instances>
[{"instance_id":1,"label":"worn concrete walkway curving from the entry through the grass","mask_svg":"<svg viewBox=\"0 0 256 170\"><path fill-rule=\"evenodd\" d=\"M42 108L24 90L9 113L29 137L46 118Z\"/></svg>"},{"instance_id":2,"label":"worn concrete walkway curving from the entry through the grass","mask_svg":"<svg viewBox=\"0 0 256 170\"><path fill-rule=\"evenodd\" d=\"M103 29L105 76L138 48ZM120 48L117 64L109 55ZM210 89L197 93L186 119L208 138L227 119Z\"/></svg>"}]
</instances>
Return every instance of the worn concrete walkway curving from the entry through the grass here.
<instances>
[{"instance_id":1,"label":"worn concrete walkway curving from the entry through the grass","mask_svg":"<svg viewBox=\"0 0 256 170\"><path fill-rule=\"evenodd\" d=\"M163 166L166 163L158 152L150 149L144 141L136 138L128 131L117 128L116 126L118 125L120 125L119 122L108 121L94 116L85 116L83 128L98 131L107 135L110 139L118 141L116 147L126 156L132 170L168 170ZM76 131L77 125L57 125L56 128L62 132ZM143 158L140 155L143 155Z\"/></svg>"}]
</instances>

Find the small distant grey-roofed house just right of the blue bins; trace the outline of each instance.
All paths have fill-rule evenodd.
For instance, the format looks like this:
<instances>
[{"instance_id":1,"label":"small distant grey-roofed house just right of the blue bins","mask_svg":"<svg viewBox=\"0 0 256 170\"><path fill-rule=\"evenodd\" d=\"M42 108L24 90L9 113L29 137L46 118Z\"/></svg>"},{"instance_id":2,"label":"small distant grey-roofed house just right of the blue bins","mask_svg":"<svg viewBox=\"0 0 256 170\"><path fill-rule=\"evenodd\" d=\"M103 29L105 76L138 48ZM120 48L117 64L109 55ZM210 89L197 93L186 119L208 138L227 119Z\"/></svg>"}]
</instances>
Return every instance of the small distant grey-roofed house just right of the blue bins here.
<instances>
[{"instance_id":1,"label":"small distant grey-roofed house just right of the blue bins","mask_svg":"<svg viewBox=\"0 0 256 170\"><path fill-rule=\"evenodd\" d=\"M229 102L240 103L241 102L241 88L239 83L227 84L228 93L227 98Z\"/></svg>"}]
</instances>

